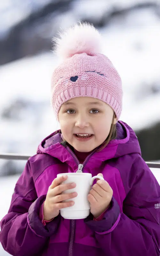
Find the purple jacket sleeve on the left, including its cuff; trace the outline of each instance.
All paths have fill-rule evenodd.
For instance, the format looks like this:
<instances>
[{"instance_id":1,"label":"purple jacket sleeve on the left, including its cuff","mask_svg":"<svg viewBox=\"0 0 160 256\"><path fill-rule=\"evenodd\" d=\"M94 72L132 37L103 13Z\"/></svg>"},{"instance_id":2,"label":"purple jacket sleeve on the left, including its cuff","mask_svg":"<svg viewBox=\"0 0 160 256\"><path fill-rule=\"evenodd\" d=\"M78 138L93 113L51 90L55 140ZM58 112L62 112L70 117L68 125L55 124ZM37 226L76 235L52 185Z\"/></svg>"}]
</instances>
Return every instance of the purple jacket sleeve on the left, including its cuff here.
<instances>
[{"instance_id":1,"label":"purple jacket sleeve on the left, including its cuff","mask_svg":"<svg viewBox=\"0 0 160 256\"><path fill-rule=\"evenodd\" d=\"M0 242L13 256L40 255L47 246L49 236L58 228L57 216L45 226L39 210L46 195L37 198L29 160L18 179L8 213L0 222Z\"/></svg>"}]
</instances>

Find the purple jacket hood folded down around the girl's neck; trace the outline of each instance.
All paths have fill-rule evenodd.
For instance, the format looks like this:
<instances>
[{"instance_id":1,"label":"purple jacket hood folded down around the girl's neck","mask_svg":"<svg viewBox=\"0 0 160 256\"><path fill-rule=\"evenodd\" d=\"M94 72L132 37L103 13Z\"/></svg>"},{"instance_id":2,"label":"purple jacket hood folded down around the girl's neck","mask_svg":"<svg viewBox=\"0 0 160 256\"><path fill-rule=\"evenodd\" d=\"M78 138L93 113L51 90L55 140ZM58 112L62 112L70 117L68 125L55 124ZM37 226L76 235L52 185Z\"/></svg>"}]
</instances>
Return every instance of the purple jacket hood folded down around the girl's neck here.
<instances>
[{"instance_id":1,"label":"purple jacket hood folded down around the girl's neck","mask_svg":"<svg viewBox=\"0 0 160 256\"><path fill-rule=\"evenodd\" d=\"M132 128L122 122L116 123L117 137L111 140L101 151L96 152L95 148L92 160L105 161L111 158L117 158L126 154L138 153L141 156L140 145L135 132ZM58 158L61 162L73 162L74 152L72 152L67 143L62 141L61 130L57 130L47 136L38 146L37 154L49 154ZM71 158L70 158L70 157Z\"/></svg>"}]
</instances>

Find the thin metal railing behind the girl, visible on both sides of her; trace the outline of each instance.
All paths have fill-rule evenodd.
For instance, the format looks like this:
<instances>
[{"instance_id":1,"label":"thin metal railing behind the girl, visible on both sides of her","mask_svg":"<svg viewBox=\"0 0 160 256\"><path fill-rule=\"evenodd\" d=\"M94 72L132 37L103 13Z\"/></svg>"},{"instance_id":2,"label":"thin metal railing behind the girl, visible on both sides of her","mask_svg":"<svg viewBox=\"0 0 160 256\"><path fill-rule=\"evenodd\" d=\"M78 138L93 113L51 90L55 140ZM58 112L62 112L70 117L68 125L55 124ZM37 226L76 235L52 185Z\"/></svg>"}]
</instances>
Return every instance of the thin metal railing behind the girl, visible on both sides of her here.
<instances>
[{"instance_id":1,"label":"thin metal railing behind the girl, visible on both sides of her","mask_svg":"<svg viewBox=\"0 0 160 256\"><path fill-rule=\"evenodd\" d=\"M12 160L28 160L29 155L12 154L12 153L1 153L0 159L12 159ZM160 168L160 163L146 162L149 168Z\"/></svg>"}]
</instances>

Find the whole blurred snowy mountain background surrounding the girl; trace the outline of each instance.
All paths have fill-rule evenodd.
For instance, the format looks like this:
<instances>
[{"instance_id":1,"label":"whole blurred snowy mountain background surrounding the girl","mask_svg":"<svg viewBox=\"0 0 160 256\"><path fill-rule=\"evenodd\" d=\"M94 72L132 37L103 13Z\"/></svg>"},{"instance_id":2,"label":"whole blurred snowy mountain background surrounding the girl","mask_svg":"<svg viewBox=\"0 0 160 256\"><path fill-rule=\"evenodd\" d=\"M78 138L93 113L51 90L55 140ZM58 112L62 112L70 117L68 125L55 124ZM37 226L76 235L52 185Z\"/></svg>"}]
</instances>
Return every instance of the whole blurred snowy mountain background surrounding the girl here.
<instances>
[{"instance_id":1,"label":"whole blurred snowy mountain background surrounding the girl","mask_svg":"<svg viewBox=\"0 0 160 256\"><path fill-rule=\"evenodd\" d=\"M123 82L120 120L136 132L145 161L160 161L160 1L6 0L0 2L0 153L34 155L59 129L50 106L51 39L88 21ZM26 161L0 159L0 219ZM160 183L160 169L151 169ZM0 255L6 255L0 246Z\"/></svg>"}]
</instances>

